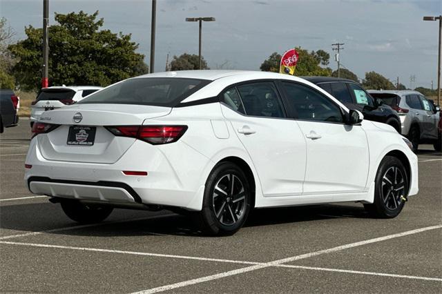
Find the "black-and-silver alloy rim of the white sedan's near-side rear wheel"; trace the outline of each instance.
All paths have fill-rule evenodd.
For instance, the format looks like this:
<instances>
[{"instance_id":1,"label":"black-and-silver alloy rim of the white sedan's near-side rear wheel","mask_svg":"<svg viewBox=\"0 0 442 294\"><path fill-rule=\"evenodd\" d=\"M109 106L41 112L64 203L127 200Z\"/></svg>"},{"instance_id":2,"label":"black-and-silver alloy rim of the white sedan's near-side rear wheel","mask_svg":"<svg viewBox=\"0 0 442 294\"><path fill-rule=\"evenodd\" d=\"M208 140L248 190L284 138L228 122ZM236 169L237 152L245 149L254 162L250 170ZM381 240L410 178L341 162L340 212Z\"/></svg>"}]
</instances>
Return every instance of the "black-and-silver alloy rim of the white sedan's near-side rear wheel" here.
<instances>
[{"instance_id":1,"label":"black-and-silver alloy rim of the white sedan's near-side rear wheel","mask_svg":"<svg viewBox=\"0 0 442 294\"><path fill-rule=\"evenodd\" d=\"M236 224L244 216L247 191L241 179L229 173L223 175L213 188L213 212L224 226Z\"/></svg>"}]
</instances>

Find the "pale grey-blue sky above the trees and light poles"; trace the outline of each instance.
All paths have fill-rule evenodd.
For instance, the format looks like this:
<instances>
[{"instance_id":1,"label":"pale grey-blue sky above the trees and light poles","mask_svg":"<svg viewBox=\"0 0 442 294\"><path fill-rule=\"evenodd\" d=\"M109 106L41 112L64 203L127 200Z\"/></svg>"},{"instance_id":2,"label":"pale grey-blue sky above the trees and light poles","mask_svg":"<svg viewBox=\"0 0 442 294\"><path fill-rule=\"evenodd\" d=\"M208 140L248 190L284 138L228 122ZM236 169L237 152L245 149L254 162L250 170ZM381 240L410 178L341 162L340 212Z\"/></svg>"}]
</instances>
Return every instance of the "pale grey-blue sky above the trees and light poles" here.
<instances>
[{"instance_id":1,"label":"pale grey-blue sky above the trees and light poles","mask_svg":"<svg viewBox=\"0 0 442 294\"><path fill-rule=\"evenodd\" d=\"M104 28L132 34L149 63L151 0L49 0L54 12L99 10ZM24 39L24 27L42 26L42 0L0 0L0 16ZM301 46L329 52L345 43L343 68L359 78L376 71L415 88L437 86L438 22L442 0L157 0L155 71L169 53L198 55L198 23L186 17L215 17L202 24L202 55L212 69L259 70L272 52ZM411 77L414 76L414 81Z\"/></svg>"}]
</instances>

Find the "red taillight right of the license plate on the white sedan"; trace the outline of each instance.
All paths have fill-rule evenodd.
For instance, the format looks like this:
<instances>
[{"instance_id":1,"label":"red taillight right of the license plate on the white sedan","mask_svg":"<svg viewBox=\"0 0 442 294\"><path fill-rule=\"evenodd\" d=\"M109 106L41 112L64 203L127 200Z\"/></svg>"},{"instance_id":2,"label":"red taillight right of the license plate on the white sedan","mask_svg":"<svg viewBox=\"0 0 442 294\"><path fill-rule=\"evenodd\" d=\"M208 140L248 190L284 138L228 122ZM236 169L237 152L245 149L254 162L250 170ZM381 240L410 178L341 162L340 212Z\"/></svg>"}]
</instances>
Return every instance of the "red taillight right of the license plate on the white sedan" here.
<instances>
[{"instance_id":1,"label":"red taillight right of the license plate on the white sedan","mask_svg":"<svg viewBox=\"0 0 442 294\"><path fill-rule=\"evenodd\" d=\"M109 126L106 128L115 136L133 137L153 145L178 141L187 130L187 126Z\"/></svg>"}]
</instances>

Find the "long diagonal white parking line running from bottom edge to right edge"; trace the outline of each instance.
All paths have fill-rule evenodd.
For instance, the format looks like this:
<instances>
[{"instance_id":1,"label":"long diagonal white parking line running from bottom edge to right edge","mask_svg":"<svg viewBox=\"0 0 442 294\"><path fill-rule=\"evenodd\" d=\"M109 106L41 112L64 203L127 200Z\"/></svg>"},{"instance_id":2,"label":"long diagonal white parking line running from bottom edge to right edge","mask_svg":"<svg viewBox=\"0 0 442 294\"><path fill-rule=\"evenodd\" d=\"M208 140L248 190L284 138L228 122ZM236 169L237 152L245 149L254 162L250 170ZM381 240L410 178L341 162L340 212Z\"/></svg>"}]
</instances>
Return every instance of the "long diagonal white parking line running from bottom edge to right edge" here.
<instances>
[{"instance_id":1,"label":"long diagonal white parking line running from bottom edge to right edge","mask_svg":"<svg viewBox=\"0 0 442 294\"><path fill-rule=\"evenodd\" d=\"M253 266L247 266L245 268L238 268L236 270L233 271L227 271L224 273L218 273L215 275L208 275L206 277L198 277L196 279L192 279L192 280L187 280L184 282L179 282L179 283L175 283L175 284L169 284L169 285L165 285L165 286L160 286L160 287L156 287L156 288L150 288L144 291L140 291L140 292L135 292L133 294L148 294L148 293L157 293L157 292L162 292L162 291L169 291L169 290L173 290L175 288L182 288L184 286L190 286L190 285L194 285L194 284L200 284L203 282L209 282L209 281L213 281L213 280L218 280L221 279L223 277L229 277L232 275L239 275L241 273L248 273L250 271L256 271L260 268L268 268L271 266L278 266L280 264L285 264L287 262L294 262L296 260L299 259L305 259L305 258L309 258L309 257L315 257L318 255L323 255L323 254L327 254L327 253L333 253L333 252L337 252L337 251L343 251L345 249L349 249L349 248L354 248L357 246L363 246L363 245L367 245L367 244L373 244L376 242L381 242L381 241L385 241L388 239L394 239L394 238L398 238L398 237L403 237L403 236L407 236L407 235L412 235L412 234L416 234L416 233L421 233L421 232L425 232L425 231L430 231L430 230L435 230L438 228L442 228L442 224L436 225L436 226L427 226L425 228L418 228L416 230L412 230L412 231L406 231L403 233L397 233L397 234L393 234L393 235L387 235L387 236L383 236L383 237L377 237L374 239L367 239L364 241L360 241L360 242L355 242L355 243L351 243L351 244L345 244L345 245L341 245L341 246L336 246L333 248L328 248L328 249L324 249L324 250L320 250L320 251L314 251L311 253L305 253L305 254L301 254L301 255L296 255L293 257L287 257L287 258L283 258L283 259L278 259L275 260L273 262L266 262L265 264L257 264L257 265L253 265Z\"/></svg>"}]
</instances>

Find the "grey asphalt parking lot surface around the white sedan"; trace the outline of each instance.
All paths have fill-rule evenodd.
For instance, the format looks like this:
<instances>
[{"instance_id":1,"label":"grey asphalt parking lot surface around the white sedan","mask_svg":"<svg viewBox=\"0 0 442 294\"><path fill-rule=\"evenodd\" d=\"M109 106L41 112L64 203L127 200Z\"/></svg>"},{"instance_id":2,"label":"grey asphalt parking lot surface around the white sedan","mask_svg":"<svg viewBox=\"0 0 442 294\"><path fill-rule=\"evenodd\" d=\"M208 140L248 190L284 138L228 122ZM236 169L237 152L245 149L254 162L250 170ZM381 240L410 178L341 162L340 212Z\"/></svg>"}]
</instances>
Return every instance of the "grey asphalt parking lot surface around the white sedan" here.
<instances>
[{"instance_id":1,"label":"grey asphalt parking lot surface around the white sedan","mask_svg":"<svg viewBox=\"0 0 442 294\"><path fill-rule=\"evenodd\" d=\"M186 217L114 210L79 226L23 183L29 121L0 135L0 291L441 293L442 153L419 150L419 195L395 219L361 204L256 210L229 237Z\"/></svg>"}]
</instances>

